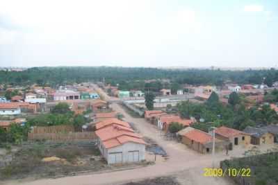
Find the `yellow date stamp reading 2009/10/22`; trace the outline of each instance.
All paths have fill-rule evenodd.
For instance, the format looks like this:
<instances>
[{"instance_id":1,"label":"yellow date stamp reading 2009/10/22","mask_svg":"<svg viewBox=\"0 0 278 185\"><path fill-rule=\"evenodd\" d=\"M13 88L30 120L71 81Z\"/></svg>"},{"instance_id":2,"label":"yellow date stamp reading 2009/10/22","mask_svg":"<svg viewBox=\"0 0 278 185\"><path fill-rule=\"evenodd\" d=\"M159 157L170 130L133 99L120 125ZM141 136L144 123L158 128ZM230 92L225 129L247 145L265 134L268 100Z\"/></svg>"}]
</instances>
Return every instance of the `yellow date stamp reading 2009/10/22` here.
<instances>
[{"instance_id":1,"label":"yellow date stamp reading 2009/10/22","mask_svg":"<svg viewBox=\"0 0 278 185\"><path fill-rule=\"evenodd\" d=\"M204 168L204 177L251 177L250 168Z\"/></svg>"}]
</instances>

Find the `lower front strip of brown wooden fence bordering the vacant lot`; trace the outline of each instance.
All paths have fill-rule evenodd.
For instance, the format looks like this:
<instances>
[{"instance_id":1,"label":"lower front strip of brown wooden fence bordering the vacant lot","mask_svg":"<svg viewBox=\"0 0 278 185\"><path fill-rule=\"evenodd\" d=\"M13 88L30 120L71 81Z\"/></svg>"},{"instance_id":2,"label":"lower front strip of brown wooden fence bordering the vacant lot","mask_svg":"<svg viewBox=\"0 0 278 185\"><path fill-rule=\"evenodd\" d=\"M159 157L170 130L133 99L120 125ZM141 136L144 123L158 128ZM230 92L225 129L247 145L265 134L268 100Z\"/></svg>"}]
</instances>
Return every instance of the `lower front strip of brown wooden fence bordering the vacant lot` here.
<instances>
[{"instance_id":1,"label":"lower front strip of brown wooden fence bordering the vacant lot","mask_svg":"<svg viewBox=\"0 0 278 185\"><path fill-rule=\"evenodd\" d=\"M97 139L95 132L28 133L29 140L74 141Z\"/></svg>"}]
</instances>

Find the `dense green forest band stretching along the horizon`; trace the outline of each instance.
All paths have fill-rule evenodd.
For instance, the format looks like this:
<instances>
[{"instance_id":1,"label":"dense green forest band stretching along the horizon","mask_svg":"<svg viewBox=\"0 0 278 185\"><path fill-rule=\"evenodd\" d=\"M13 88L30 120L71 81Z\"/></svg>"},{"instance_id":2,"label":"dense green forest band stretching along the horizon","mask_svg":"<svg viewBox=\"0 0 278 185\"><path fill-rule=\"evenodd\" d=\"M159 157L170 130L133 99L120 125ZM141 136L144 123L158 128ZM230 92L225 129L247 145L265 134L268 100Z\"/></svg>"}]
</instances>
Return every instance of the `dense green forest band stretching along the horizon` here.
<instances>
[{"instance_id":1,"label":"dense green forest band stretching along the horizon","mask_svg":"<svg viewBox=\"0 0 278 185\"><path fill-rule=\"evenodd\" d=\"M105 79L120 89L142 89L143 80L169 79L176 84L222 85L227 80L239 84L272 85L278 80L278 71L246 70L224 71L220 69L157 69L142 67L33 67L25 71L0 71L0 83L10 85L59 85L62 82L87 82ZM132 82L132 83L131 83Z\"/></svg>"}]
</instances>

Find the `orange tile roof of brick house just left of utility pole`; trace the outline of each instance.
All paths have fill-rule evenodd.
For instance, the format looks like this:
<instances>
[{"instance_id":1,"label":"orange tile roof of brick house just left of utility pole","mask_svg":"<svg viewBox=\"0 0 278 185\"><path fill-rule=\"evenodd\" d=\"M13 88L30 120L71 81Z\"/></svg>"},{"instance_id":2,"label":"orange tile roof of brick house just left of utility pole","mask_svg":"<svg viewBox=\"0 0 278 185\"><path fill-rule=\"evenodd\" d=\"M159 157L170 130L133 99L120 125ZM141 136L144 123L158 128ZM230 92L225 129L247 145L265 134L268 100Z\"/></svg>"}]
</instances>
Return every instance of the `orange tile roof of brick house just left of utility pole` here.
<instances>
[{"instance_id":1,"label":"orange tile roof of brick house just left of utility pole","mask_svg":"<svg viewBox=\"0 0 278 185\"><path fill-rule=\"evenodd\" d=\"M183 134L183 136L186 136L188 139L202 144L208 143L212 139L212 136L210 134L197 129L186 132L185 134Z\"/></svg>"}]
</instances>

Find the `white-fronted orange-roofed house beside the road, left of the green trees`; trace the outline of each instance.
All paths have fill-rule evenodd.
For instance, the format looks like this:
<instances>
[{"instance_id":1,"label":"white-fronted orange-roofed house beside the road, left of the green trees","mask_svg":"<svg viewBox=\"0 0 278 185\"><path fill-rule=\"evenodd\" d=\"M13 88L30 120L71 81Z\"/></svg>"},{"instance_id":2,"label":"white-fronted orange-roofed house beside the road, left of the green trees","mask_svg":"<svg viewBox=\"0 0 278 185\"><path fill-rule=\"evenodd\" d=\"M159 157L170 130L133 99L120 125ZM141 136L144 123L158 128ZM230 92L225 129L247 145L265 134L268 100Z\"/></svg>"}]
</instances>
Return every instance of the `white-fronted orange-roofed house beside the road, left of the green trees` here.
<instances>
[{"instance_id":1,"label":"white-fronted orange-roofed house beside the road, left of the green trees","mask_svg":"<svg viewBox=\"0 0 278 185\"><path fill-rule=\"evenodd\" d=\"M193 120L183 119L180 116L173 116L168 114L158 117L157 126L160 130L163 130L167 133L169 125L173 122L177 122L183 125L184 127L188 127L193 123Z\"/></svg>"}]
</instances>

